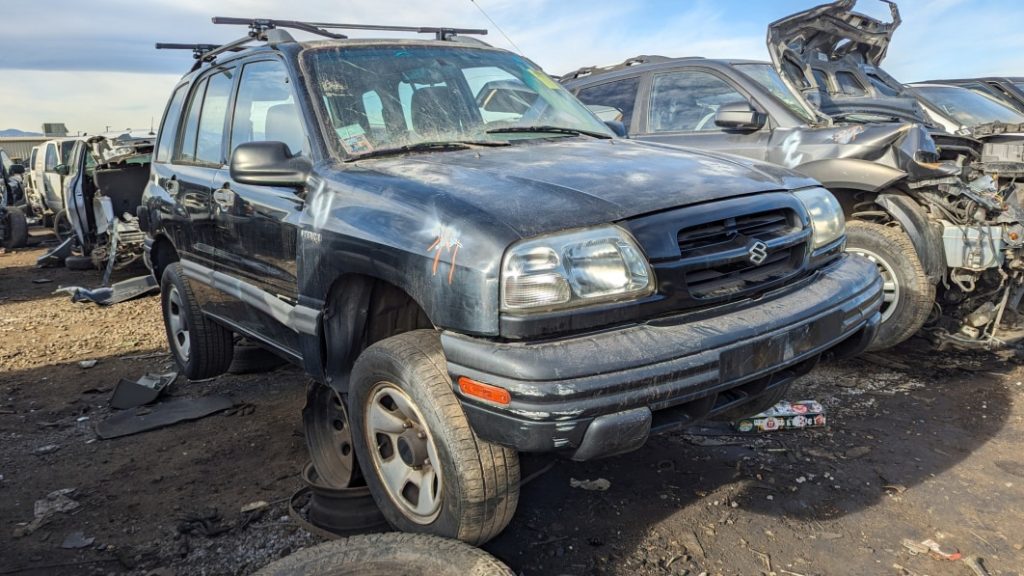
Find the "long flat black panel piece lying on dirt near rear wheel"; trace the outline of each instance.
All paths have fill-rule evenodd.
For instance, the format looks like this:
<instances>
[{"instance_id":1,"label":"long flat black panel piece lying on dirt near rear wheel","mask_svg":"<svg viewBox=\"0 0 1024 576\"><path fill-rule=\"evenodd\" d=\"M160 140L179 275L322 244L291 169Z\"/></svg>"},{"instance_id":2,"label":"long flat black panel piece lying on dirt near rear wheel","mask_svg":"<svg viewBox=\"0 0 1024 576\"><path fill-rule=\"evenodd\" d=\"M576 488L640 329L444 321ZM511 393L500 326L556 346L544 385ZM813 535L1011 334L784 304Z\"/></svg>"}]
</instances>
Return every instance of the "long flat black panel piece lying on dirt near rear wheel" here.
<instances>
[{"instance_id":1,"label":"long flat black panel piece lying on dirt near rear wheel","mask_svg":"<svg viewBox=\"0 0 1024 576\"><path fill-rule=\"evenodd\" d=\"M125 410L108 417L96 425L96 436L103 440L155 430L222 412L234 406L223 396L180 398L162 402L152 408Z\"/></svg>"}]
</instances>

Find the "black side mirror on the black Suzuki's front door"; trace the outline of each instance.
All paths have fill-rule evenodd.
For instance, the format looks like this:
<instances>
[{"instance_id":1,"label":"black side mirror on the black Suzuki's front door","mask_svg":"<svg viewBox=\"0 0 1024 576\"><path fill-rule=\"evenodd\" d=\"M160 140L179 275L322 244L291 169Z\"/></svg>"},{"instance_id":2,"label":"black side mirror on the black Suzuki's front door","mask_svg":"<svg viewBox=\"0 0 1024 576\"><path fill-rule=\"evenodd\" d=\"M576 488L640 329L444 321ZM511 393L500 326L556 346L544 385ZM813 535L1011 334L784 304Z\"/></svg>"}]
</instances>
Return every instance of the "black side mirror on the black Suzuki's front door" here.
<instances>
[{"instance_id":1,"label":"black side mirror on the black Suzuki's front door","mask_svg":"<svg viewBox=\"0 0 1024 576\"><path fill-rule=\"evenodd\" d=\"M306 184L312 164L293 155L285 142L247 142L234 149L229 169L239 183L300 188Z\"/></svg>"}]
</instances>

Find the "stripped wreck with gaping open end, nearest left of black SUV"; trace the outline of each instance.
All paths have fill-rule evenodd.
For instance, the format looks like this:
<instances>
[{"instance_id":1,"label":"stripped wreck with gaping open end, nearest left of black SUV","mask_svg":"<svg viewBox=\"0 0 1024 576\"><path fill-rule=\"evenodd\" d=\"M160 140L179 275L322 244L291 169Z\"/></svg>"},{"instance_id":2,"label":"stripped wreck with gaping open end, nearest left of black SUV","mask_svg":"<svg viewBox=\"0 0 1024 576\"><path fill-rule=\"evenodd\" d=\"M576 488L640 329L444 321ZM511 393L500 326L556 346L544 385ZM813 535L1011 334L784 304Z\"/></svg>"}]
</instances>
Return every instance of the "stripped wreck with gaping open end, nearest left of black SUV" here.
<instances>
[{"instance_id":1,"label":"stripped wreck with gaping open end, nearest left of black SUV","mask_svg":"<svg viewBox=\"0 0 1024 576\"><path fill-rule=\"evenodd\" d=\"M155 136L125 132L75 142L68 161L65 209L77 248L110 275L142 257L145 235L135 215L146 180Z\"/></svg>"}]
</instances>

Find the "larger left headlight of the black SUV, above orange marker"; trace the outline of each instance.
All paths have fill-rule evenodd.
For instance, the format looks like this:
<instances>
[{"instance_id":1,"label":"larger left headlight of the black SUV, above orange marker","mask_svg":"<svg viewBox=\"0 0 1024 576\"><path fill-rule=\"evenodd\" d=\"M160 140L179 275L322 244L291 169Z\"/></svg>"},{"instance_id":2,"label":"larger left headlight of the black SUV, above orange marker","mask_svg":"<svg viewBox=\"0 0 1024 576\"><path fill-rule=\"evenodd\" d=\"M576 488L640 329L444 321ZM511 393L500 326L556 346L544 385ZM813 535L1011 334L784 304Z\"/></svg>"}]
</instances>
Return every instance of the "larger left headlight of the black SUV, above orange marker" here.
<instances>
[{"instance_id":1,"label":"larger left headlight of the black SUV, above orange marker","mask_svg":"<svg viewBox=\"0 0 1024 576\"><path fill-rule=\"evenodd\" d=\"M636 242L614 225L526 240L502 262L502 310L571 307L650 294L653 273Z\"/></svg>"}]
</instances>

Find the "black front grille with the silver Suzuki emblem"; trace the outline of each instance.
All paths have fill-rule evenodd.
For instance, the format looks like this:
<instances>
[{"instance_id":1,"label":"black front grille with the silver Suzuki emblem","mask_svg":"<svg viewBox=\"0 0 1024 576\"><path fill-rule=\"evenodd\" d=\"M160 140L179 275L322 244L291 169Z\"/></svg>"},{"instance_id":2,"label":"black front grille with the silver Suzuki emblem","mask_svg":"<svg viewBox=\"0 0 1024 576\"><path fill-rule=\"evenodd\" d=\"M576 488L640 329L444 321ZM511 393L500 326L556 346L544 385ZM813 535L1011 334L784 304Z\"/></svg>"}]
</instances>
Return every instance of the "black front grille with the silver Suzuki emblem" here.
<instances>
[{"instance_id":1,"label":"black front grille with the silver Suzuki emblem","mask_svg":"<svg viewBox=\"0 0 1024 576\"><path fill-rule=\"evenodd\" d=\"M690 297L718 299L753 292L801 272L807 237L787 208L730 216L679 231L680 263ZM752 259L763 245L764 259Z\"/></svg>"}]
</instances>

